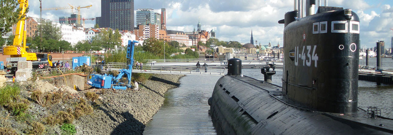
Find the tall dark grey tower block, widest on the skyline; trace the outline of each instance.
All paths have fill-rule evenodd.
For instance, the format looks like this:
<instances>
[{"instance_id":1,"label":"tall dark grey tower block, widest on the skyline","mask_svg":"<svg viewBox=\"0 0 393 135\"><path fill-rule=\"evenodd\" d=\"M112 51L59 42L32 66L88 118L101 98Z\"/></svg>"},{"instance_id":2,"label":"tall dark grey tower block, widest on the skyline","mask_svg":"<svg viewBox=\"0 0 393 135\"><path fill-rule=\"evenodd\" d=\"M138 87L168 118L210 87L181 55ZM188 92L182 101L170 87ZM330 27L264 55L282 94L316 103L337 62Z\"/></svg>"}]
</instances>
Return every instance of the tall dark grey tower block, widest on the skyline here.
<instances>
[{"instance_id":1,"label":"tall dark grey tower block, widest on the skyline","mask_svg":"<svg viewBox=\"0 0 393 135\"><path fill-rule=\"evenodd\" d=\"M96 23L99 27L133 31L134 0L101 0L101 17Z\"/></svg>"}]
</instances>

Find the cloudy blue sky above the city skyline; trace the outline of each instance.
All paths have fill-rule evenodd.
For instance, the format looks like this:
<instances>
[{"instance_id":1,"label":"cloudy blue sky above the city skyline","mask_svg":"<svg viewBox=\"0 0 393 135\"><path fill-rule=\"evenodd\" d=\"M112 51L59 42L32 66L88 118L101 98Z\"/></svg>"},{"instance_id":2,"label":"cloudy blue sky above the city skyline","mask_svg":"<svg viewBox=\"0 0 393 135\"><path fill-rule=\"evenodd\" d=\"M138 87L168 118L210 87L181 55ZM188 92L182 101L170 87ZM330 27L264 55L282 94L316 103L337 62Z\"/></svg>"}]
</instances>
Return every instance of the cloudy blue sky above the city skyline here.
<instances>
[{"instance_id":1,"label":"cloudy blue sky above the city skyline","mask_svg":"<svg viewBox=\"0 0 393 135\"><path fill-rule=\"evenodd\" d=\"M101 0L42 0L42 8L68 7L68 4L92 5L81 9L83 18L101 16ZM293 0L134 0L134 14L136 9L143 8L161 13L164 7L169 30L193 31L199 20L202 30L214 29L219 40L249 43L252 30L258 44L267 45L270 41L272 45L282 45L284 25L277 22L286 12L293 11L293 4ZM352 9L358 14L362 47L374 47L378 40L385 41L385 48L391 47L393 0L328 0L328 6ZM28 16L39 17L39 7L39 0L29 0ZM42 18L58 20L59 16L71 13L71 9L46 10ZM86 27L93 27L95 21L85 23Z\"/></svg>"}]
</instances>

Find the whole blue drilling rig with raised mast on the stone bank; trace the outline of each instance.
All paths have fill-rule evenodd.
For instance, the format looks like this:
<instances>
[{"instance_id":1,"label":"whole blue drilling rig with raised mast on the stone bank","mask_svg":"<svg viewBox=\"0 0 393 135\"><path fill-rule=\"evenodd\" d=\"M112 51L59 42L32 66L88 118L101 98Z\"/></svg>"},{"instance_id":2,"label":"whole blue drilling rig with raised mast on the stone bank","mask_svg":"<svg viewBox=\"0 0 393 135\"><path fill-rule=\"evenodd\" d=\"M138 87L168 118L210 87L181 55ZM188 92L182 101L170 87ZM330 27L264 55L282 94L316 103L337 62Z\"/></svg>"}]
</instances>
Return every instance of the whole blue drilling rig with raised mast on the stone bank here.
<instances>
[{"instance_id":1,"label":"whole blue drilling rig with raised mast on the stone bank","mask_svg":"<svg viewBox=\"0 0 393 135\"><path fill-rule=\"evenodd\" d=\"M118 76L114 77L112 75L101 75L101 74L90 74L88 76L87 84L95 88L114 88L125 90L131 88L131 76L132 76L132 66L134 63L134 47L135 43L138 41L128 41L127 47L127 69L120 69ZM127 75L128 83L120 83L119 80Z\"/></svg>"}]
</instances>

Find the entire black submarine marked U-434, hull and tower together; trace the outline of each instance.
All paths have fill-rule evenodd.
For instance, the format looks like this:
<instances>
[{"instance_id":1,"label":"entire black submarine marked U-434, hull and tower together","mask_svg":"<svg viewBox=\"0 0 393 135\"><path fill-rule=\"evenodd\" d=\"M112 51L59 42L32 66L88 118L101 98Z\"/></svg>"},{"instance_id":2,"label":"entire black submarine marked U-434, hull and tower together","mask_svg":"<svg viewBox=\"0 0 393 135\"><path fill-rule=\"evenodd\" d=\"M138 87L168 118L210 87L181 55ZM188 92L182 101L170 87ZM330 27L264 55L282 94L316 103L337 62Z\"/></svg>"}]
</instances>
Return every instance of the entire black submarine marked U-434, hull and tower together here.
<instances>
[{"instance_id":1,"label":"entire black submarine marked U-434, hull and tower together","mask_svg":"<svg viewBox=\"0 0 393 135\"><path fill-rule=\"evenodd\" d=\"M285 13L282 86L244 76L241 59L228 60L209 98L219 135L391 135L393 119L358 108L359 17L351 9L294 0ZM300 6L299 6L300 5Z\"/></svg>"}]
</instances>

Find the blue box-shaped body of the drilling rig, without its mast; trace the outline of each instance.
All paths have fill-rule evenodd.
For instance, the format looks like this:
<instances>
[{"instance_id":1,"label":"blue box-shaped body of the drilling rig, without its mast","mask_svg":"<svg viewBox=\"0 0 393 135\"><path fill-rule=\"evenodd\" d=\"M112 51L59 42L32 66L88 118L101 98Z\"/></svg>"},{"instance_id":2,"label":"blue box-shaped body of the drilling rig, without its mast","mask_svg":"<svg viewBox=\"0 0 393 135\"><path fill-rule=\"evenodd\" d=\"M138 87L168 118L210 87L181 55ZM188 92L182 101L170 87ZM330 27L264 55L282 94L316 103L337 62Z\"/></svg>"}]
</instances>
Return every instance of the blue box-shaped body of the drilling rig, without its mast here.
<instances>
[{"instance_id":1,"label":"blue box-shaped body of the drilling rig, without its mast","mask_svg":"<svg viewBox=\"0 0 393 135\"><path fill-rule=\"evenodd\" d=\"M87 79L88 79L87 84L95 88L111 88L112 86L111 76L90 74Z\"/></svg>"}]
</instances>

